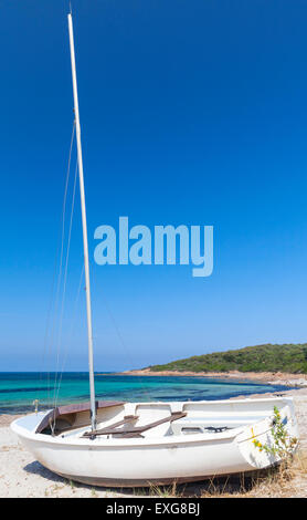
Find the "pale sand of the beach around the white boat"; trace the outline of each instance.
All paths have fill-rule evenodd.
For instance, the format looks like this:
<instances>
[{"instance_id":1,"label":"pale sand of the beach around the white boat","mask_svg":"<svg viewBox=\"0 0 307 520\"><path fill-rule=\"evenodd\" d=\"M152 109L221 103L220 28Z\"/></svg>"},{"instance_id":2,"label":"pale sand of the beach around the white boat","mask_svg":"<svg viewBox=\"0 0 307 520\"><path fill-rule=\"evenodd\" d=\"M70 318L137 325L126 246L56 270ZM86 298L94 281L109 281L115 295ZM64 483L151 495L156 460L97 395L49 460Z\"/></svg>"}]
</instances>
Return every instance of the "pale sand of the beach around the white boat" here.
<instances>
[{"instance_id":1,"label":"pale sand of the beach around the white boat","mask_svg":"<svg viewBox=\"0 0 307 520\"><path fill-rule=\"evenodd\" d=\"M287 394L295 399L296 416L299 426L301 449L307 449L307 388L290 389ZM269 394L267 394L269 395ZM262 395L263 396L263 395ZM13 416L0 416L0 497L129 497L137 498L148 493L141 490L110 490L89 486L70 483L63 478L43 468L31 454L18 441L10 430L9 424ZM201 496L204 483L189 485L184 496ZM285 490L284 490L285 491ZM286 495L285 495L286 492ZM307 476L300 475L294 486L283 496L307 497ZM277 493L277 491L276 491ZM151 490L152 495L152 490ZM262 492L262 496L263 492Z\"/></svg>"}]
</instances>

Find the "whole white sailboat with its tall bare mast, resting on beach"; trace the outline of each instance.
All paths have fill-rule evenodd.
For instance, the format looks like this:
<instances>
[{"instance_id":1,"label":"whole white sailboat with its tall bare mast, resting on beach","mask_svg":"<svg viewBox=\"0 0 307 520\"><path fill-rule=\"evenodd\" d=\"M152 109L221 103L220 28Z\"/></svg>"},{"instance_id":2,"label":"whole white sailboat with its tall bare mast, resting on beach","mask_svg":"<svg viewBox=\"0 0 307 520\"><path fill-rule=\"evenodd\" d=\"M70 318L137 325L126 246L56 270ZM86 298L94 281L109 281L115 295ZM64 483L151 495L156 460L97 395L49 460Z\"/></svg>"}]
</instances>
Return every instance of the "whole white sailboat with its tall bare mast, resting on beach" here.
<instances>
[{"instance_id":1,"label":"whole white sailboat with its tall bare mast, resting on beach","mask_svg":"<svg viewBox=\"0 0 307 520\"><path fill-rule=\"evenodd\" d=\"M273 446L274 407L289 437L297 437L289 397L126 403L96 401L86 209L83 179L73 20L68 33L83 225L88 332L89 403L25 415L11 425L25 448L51 471L108 487L188 482L253 471L279 461L255 440Z\"/></svg>"}]
</instances>

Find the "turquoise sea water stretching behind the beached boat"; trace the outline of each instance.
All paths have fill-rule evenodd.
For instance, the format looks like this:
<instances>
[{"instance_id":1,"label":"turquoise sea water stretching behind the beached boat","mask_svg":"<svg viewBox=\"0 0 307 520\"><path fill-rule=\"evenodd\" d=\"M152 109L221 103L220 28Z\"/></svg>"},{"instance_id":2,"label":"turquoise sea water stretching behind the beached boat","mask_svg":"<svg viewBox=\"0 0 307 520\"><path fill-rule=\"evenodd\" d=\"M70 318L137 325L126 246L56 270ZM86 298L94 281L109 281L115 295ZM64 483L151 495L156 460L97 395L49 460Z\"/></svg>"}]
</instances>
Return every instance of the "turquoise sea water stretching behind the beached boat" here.
<instances>
[{"instance_id":1,"label":"turquoise sea water stretching behind the beached boat","mask_svg":"<svg viewBox=\"0 0 307 520\"><path fill-rule=\"evenodd\" d=\"M55 392L55 374L29 372L0 373L0 414L17 414L33 409L33 401L40 408L56 404L88 401L88 374L66 372L62 375L59 395ZM56 388L59 387L59 377ZM225 399L237 395L283 392L280 385L254 382L214 379L209 377L128 376L96 374L97 399L120 401L201 401Z\"/></svg>"}]
</instances>

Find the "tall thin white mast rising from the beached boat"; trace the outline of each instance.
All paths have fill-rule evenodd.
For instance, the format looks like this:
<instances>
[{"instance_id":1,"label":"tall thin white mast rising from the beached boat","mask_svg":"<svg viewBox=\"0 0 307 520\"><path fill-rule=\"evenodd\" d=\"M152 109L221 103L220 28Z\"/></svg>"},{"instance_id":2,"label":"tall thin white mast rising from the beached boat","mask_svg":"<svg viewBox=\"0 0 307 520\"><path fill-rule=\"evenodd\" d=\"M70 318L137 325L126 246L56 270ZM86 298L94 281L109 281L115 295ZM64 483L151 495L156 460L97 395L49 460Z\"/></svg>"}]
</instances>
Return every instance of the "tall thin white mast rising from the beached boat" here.
<instances>
[{"instance_id":1,"label":"tall thin white mast rising from the beached boat","mask_svg":"<svg viewBox=\"0 0 307 520\"><path fill-rule=\"evenodd\" d=\"M92 422L92 430L94 431L96 429L96 405L95 405L95 384L94 384L94 360L93 360L93 332L92 332L92 310L91 310L91 289L89 289L89 267L88 267L88 243L87 243L86 209L85 209L83 162L82 162L82 146L81 146L81 129L80 129L77 82L76 82L76 62L75 62L74 31L73 31L72 13L68 14L68 30L70 30L72 76L73 76L73 91L74 91L76 144L77 144L77 165L78 165L82 228L83 228L84 271L85 271L85 291L86 291L86 311L87 311L87 335L88 335L91 422Z\"/></svg>"}]
</instances>

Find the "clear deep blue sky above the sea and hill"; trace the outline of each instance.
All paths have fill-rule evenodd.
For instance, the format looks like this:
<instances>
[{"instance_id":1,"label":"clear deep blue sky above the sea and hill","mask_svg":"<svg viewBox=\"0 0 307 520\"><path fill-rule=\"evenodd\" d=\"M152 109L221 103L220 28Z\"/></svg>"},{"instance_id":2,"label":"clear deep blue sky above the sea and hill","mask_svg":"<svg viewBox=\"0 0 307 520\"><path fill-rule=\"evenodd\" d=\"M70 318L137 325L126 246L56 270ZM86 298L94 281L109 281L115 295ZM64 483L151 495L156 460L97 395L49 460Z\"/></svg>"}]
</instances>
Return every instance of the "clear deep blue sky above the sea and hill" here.
<instances>
[{"instance_id":1,"label":"clear deep blue sky above the sea and hill","mask_svg":"<svg viewBox=\"0 0 307 520\"><path fill-rule=\"evenodd\" d=\"M305 342L306 2L75 0L73 11L95 368ZM66 13L62 0L0 1L2 371L42 367L72 128ZM96 266L94 230L119 216L213 225L213 274ZM77 209L63 343L81 264ZM86 371L84 294L76 315L65 370Z\"/></svg>"}]
</instances>

